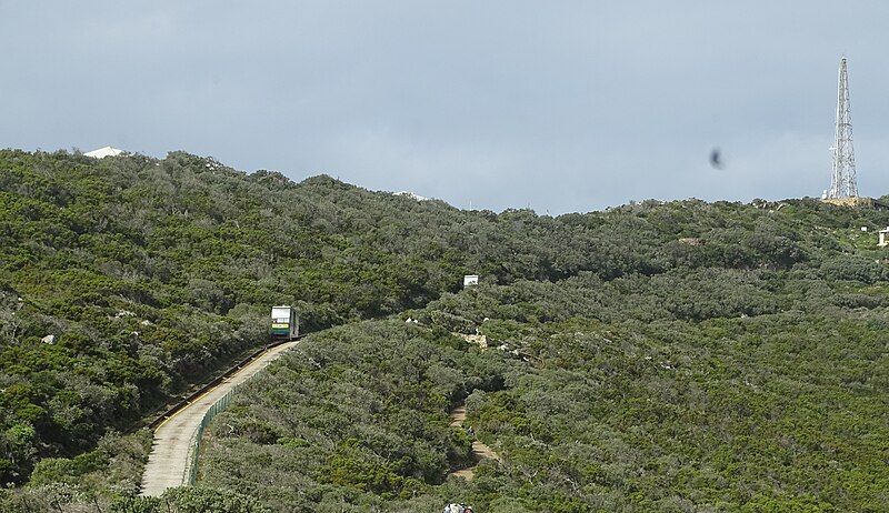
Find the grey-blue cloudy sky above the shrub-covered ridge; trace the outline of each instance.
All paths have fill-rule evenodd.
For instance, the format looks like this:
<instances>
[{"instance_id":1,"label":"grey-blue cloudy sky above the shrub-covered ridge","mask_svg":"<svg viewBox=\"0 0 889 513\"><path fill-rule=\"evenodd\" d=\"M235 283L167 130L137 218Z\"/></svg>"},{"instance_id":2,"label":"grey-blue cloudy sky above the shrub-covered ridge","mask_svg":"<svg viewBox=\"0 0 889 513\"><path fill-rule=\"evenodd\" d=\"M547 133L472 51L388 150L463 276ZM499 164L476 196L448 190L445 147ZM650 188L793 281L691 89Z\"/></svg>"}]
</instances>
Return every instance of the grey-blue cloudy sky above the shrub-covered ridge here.
<instances>
[{"instance_id":1,"label":"grey-blue cloudy sky above the shrub-covered ridge","mask_svg":"<svg viewBox=\"0 0 889 513\"><path fill-rule=\"evenodd\" d=\"M0 148L184 150L495 211L818 197L845 53L879 197L887 26L883 1L0 0Z\"/></svg>"}]
</instances>

